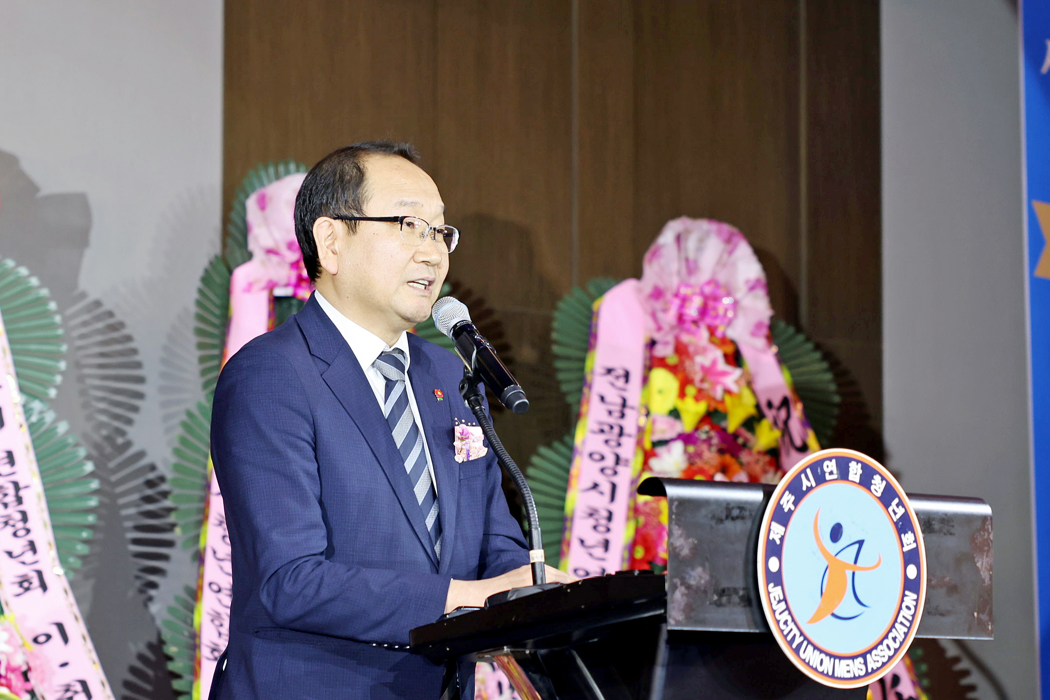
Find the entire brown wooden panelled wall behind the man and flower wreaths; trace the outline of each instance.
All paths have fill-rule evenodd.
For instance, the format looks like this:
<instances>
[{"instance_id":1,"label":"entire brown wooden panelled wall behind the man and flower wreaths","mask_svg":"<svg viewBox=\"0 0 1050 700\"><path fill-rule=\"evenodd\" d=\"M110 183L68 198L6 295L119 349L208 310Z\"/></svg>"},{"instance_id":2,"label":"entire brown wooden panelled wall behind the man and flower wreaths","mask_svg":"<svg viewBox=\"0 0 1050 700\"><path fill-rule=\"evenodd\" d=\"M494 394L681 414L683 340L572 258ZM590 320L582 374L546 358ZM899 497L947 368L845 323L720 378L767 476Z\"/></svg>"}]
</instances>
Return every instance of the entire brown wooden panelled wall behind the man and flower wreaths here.
<instances>
[{"instance_id":1,"label":"entire brown wooden panelled wall behind the man and flower wreaths","mask_svg":"<svg viewBox=\"0 0 1050 700\"><path fill-rule=\"evenodd\" d=\"M669 219L729 222L853 382L839 444L872 449L878 52L869 0L227 0L225 201L259 162L412 140L532 399L497 415L521 461L574 413L556 300L637 275Z\"/></svg>"}]
</instances>

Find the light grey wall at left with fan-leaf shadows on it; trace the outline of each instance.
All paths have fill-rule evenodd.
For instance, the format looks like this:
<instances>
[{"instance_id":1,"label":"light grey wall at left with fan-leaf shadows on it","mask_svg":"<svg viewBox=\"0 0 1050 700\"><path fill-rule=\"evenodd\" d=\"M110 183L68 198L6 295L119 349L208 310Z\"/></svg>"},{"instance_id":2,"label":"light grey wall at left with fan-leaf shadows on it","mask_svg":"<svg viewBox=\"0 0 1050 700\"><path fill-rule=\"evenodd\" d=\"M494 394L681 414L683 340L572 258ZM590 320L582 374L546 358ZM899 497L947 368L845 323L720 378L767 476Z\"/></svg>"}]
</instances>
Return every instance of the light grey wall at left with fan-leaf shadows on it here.
<instances>
[{"instance_id":1,"label":"light grey wall at left with fan-leaf shadows on it","mask_svg":"<svg viewBox=\"0 0 1050 700\"><path fill-rule=\"evenodd\" d=\"M103 482L74 590L118 697L170 694L155 617L191 563L184 551L161 561L169 575L150 595L127 533L132 494L167 470L200 393L192 303L219 245L222 41L222 0L0 0L0 258L51 289L67 331L86 302L107 310L98 330L133 351L125 388L142 394L100 423L84 390L104 388L75 342L51 404L93 446Z\"/></svg>"}]
</instances>

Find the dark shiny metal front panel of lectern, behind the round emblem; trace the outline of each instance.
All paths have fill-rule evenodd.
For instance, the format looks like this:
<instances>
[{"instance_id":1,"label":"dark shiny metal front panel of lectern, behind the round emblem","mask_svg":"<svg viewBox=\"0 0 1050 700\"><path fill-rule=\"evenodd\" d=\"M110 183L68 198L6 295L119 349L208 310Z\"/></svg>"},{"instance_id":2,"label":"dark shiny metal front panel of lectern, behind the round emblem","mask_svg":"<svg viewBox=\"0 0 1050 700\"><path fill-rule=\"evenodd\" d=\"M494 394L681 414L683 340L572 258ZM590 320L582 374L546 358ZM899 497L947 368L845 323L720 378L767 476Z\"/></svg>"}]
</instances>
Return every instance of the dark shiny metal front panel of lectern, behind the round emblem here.
<instances>
[{"instance_id":1,"label":"dark shiny metal front panel of lectern, behind the round emblem","mask_svg":"<svg viewBox=\"0 0 1050 700\"><path fill-rule=\"evenodd\" d=\"M669 630L769 632L758 598L758 528L773 487L650 477L668 498ZM926 544L919 637L992 637L991 509L979 498L909 495Z\"/></svg>"}]
</instances>

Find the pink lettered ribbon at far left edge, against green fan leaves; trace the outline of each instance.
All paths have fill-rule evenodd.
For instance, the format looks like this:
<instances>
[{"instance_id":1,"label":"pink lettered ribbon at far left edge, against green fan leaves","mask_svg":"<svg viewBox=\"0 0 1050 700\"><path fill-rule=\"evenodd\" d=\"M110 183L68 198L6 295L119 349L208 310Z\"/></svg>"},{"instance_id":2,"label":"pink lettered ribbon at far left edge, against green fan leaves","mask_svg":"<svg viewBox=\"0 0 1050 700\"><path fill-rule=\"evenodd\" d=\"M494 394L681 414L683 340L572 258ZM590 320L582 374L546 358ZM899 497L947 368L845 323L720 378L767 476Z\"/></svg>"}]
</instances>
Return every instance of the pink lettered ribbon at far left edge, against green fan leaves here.
<instances>
[{"instance_id":1,"label":"pink lettered ribbon at far left edge, against green fan leaves","mask_svg":"<svg viewBox=\"0 0 1050 700\"><path fill-rule=\"evenodd\" d=\"M41 700L112 700L59 562L47 499L0 318L0 604L29 642ZM17 643L17 642L16 642Z\"/></svg>"}]
</instances>

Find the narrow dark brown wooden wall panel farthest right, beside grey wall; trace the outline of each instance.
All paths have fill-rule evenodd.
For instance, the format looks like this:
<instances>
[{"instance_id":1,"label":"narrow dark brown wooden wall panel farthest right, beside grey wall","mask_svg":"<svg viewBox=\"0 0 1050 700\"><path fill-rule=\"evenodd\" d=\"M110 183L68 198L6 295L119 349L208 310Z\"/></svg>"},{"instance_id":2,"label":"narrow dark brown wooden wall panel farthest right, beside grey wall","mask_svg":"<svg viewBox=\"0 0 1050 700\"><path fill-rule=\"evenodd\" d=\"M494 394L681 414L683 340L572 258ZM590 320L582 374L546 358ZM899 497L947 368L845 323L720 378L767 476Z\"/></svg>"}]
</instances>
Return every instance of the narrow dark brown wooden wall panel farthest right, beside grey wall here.
<instances>
[{"instance_id":1,"label":"narrow dark brown wooden wall panel farthest right, beside grey wall","mask_svg":"<svg viewBox=\"0 0 1050 700\"><path fill-rule=\"evenodd\" d=\"M881 458L879 7L805 2L804 326L840 375L837 446Z\"/></svg>"}]
</instances>

